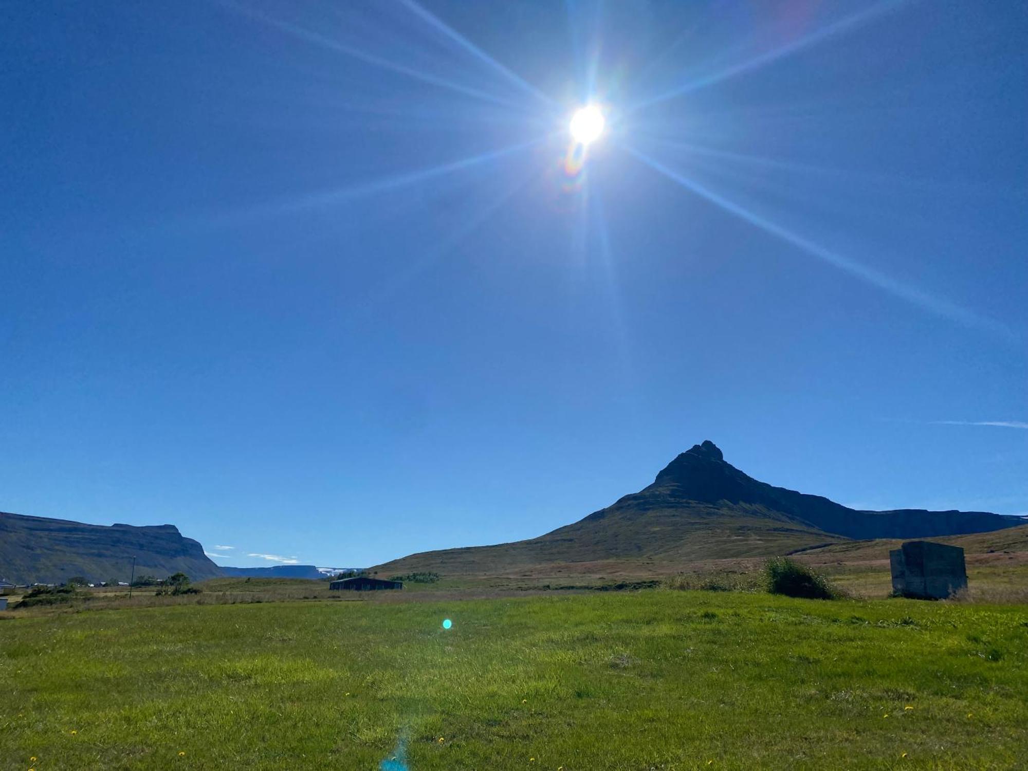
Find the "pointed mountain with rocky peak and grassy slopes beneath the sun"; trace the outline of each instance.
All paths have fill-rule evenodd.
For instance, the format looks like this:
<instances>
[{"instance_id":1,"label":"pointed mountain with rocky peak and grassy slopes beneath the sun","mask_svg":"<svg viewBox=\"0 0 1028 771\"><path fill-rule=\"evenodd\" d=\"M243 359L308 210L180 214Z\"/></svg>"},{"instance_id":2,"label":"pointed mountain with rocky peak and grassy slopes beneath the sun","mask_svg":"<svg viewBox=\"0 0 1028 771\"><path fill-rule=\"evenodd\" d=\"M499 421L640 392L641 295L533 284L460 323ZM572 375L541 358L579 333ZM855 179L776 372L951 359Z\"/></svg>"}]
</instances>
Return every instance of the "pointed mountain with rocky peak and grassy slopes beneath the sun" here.
<instances>
[{"instance_id":1,"label":"pointed mountain with rocky peak and grassy slopes beneath the sun","mask_svg":"<svg viewBox=\"0 0 1028 771\"><path fill-rule=\"evenodd\" d=\"M545 536L412 554L376 570L451 576L624 573L633 567L655 573L663 572L660 566L771 556L854 538L947 536L1022 522L986 512L849 509L752 479L726 463L713 443L703 442L675 457L639 492Z\"/></svg>"}]
</instances>

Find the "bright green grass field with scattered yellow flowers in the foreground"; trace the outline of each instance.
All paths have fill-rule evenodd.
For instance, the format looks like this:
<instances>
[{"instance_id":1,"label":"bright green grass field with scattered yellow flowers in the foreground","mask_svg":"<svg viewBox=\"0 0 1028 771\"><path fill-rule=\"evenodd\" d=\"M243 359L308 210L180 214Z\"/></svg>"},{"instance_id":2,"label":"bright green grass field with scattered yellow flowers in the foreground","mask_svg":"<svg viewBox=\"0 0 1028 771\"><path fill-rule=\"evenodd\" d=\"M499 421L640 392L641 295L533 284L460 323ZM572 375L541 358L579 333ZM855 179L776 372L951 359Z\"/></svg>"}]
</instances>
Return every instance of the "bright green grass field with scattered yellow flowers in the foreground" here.
<instances>
[{"instance_id":1,"label":"bright green grass field with scattered yellow flowers in the foreground","mask_svg":"<svg viewBox=\"0 0 1028 771\"><path fill-rule=\"evenodd\" d=\"M5 615L4 770L1028 764L1024 605L652 590Z\"/></svg>"}]
</instances>

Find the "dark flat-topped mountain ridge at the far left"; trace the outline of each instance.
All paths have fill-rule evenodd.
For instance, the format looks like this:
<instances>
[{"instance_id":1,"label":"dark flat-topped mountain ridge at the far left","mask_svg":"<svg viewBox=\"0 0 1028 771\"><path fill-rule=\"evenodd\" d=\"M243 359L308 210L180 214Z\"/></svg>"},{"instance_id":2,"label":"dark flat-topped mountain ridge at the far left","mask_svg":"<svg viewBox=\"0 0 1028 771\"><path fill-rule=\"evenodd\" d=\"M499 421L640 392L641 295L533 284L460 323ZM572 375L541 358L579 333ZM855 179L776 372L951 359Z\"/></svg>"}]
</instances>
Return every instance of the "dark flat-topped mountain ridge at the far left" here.
<instances>
[{"instance_id":1,"label":"dark flat-topped mountain ridge at the far left","mask_svg":"<svg viewBox=\"0 0 1028 771\"><path fill-rule=\"evenodd\" d=\"M137 576L182 571L199 581L222 575L199 543L183 538L175 525L106 526L0 512L0 577L13 583L74 576L127 581L134 556Z\"/></svg>"}]
</instances>

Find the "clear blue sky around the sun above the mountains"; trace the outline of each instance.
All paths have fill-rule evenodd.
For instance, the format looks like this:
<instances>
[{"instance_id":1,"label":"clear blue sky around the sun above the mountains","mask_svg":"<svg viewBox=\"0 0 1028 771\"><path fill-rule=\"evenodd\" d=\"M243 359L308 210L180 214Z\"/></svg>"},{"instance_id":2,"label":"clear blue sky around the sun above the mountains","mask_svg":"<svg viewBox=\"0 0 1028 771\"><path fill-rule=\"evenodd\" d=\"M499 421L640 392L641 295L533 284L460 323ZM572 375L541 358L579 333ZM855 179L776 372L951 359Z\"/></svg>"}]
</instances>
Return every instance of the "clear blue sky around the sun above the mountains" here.
<instances>
[{"instance_id":1,"label":"clear blue sky around the sun above the mountains","mask_svg":"<svg viewBox=\"0 0 1028 771\"><path fill-rule=\"evenodd\" d=\"M711 439L848 505L1028 512L1024 3L0 29L0 510L362 565L540 535Z\"/></svg>"}]
</instances>

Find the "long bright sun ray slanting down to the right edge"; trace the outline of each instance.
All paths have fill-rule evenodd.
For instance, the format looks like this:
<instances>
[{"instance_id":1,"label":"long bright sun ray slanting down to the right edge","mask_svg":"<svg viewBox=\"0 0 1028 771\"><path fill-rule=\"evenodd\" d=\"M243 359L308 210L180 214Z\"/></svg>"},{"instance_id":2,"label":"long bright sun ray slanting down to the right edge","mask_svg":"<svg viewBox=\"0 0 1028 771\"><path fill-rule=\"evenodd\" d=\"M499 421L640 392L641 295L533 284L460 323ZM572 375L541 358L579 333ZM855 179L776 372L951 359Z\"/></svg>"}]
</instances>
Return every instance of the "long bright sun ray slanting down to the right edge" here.
<instances>
[{"instance_id":1,"label":"long bright sun ray slanting down to the right edge","mask_svg":"<svg viewBox=\"0 0 1028 771\"><path fill-rule=\"evenodd\" d=\"M896 297L900 297L932 314L937 314L938 316L951 319L968 327L987 329L991 332L1002 334L1007 338L1016 338L1014 332L1006 325L995 319L981 316L972 310L957 305L950 300L928 294L927 292L917 289L916 287L910 287L896 281L890 276L886 276L885 273L876 270L875 268L868 267L867 265L856 262L855 260L833 252L830 249L825 249L824 247L793 232L788 228L782 227L781 225L778 225L765 217L762 217L759 214L751 212L722 195L719 195L712 190L708 190L698 182L694 182L686 177L683 177L681 174L671 171L663 163L651 158L634 147L626 146L625 149L638 160L642 161L654 171L659 172L687 190L705 198L711 204L715 204L726 212L734 214L751 225L761 228L765 232L781 238L787 244L792 244L801 251L804 251L813 257L817 257L830 265L833 265L841 270L845 270L846 272L855 276L858 279L878 287L879 289L883 289Z\"/></svg>"}]
</instances>

